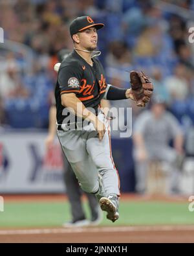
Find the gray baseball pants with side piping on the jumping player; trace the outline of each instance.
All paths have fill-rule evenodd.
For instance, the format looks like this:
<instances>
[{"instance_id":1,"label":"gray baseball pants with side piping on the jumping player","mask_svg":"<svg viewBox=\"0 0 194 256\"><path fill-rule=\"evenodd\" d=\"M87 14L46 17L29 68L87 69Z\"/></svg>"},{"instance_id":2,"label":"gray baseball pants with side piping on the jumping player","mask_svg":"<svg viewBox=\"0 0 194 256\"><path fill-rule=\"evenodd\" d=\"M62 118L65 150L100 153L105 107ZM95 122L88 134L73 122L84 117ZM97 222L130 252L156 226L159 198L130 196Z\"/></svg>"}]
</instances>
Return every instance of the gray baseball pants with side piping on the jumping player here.
<instances>
[{"instance_id":1,"label":"gray baseball pants with side piping on the jumping player","mask_svg":"<svg viewBox=\"0 0 194 256\"><path fill-rule=\"evenodd\" d=\"M58 130L59 142L83 191L100 196L120 196L120 180L111 153L110 131L104 115L100 113L98 118L107 127L102 141L90 123L82 130ZM98 174L102 177L102 185Z\"/></svg>"}]
</instances>

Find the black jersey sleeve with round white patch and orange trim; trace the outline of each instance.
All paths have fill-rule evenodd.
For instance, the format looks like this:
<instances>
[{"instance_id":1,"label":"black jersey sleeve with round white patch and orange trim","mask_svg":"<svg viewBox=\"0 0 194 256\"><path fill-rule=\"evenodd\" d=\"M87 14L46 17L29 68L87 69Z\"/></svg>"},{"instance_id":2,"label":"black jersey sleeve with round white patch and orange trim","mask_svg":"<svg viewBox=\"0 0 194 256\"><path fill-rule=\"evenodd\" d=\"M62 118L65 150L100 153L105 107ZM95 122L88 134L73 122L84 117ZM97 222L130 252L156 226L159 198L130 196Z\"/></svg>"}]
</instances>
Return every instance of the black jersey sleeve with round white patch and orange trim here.
<instances>
[{"instance_id":1,"label":"black jersey sleeve with round white patch and orange trim","mask_svg":"<svg viewBox=\"0 0 194 256\"><path fill-rule=\"evenodd\" d=\"M59 88L63 93L79 93L81 84L81 70L74 66L65 66L59 69Z\"/></svg>"}]
</instances>

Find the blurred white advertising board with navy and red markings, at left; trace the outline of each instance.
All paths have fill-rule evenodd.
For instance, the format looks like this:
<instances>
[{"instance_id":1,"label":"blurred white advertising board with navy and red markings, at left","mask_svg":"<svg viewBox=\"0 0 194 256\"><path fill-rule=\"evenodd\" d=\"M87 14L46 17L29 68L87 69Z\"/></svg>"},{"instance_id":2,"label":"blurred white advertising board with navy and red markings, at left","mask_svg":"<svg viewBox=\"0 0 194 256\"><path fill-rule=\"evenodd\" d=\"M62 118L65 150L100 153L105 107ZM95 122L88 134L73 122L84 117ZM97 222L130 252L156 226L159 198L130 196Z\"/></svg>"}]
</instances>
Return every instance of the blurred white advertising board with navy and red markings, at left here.
<instances>
[{"instance_id":1,"label":"blurred white advertising board with navy and red markings, at left","mask_svg":"<svg viewBox=\"0 0 194 256\"><path fill-rule=\"evenodd\" d=\"M45 148L45 132L0 133L0 193L65 192L63 157L56 142Z\"/></svg>"}]
</instances>

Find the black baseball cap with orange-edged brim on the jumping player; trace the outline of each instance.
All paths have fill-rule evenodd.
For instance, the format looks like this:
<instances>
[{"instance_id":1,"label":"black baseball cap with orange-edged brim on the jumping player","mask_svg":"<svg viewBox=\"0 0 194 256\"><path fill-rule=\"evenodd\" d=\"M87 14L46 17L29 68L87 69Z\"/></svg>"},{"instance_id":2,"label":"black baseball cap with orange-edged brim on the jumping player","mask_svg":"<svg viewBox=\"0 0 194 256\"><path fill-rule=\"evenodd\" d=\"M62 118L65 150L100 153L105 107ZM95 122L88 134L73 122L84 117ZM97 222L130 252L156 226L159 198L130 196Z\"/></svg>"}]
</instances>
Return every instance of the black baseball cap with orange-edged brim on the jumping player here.
<instances>
[{"instance_id":1,"label":"black baseball cap with orange-edged brim on the jumping player","mask_svg":"<svg viewBox=\"0 0 194 256\"><path fill-rule=\"evenodd\" d=\"M85 29L95 27L96 29L101 29L103 27L103 23L94 23L93 19L89 16L81 16L76 17L71 23L70 23L70 36L72 37L74 34L81 32Z\"/></svg>"}]
</instances>

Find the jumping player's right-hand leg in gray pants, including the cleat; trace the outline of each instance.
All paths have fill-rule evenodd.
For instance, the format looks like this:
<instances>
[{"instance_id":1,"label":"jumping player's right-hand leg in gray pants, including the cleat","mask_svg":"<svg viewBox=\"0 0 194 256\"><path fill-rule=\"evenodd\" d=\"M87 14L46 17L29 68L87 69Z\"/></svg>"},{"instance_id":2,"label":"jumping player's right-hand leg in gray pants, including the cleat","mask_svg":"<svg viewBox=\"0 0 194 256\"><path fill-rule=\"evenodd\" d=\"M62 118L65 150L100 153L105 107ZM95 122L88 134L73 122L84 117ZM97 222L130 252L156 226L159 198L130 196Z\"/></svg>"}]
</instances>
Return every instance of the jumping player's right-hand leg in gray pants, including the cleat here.
<instances>
[{"instance_id":1,"label":"jumping player's right-hand leg in gray pants, including the cleat","mask_svg":"<svg viewBox=\"0 0 194 256\"><path fill-rule=\"evenodd\" d=\"M120 196L120 180L114 166L111 152L111 137L107 130L100 141L97 136L88 136L87 152L94 161L99 174L102 176L103 189L105 191L100 198L103 211L107 211L107 218L113 222L118 219L118 198Z\"/></svg>"}]
</instances>

